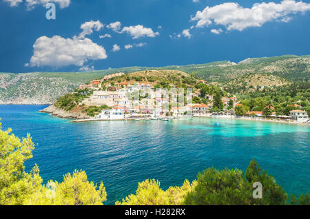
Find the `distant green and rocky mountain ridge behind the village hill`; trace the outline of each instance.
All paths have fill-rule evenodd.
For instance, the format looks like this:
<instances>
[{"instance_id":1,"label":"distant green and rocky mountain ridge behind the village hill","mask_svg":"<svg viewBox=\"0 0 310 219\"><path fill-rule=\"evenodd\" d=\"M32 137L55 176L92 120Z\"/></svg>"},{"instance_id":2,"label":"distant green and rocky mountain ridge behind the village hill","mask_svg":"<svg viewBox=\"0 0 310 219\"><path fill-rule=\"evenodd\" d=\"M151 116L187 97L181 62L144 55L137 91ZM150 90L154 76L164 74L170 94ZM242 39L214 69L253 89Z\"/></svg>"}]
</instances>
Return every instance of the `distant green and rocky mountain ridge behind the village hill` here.
<instances>
[{"instance_id":1,"label":"distant green and rocky mountain ridge behind the village hill","mask_svg":"<svg viewBox=\"0 0 310 219\"><path fill-rule=\"evenodd\" d=\"M171 65L165 67L122 67L94 72L32 72L0 73L0 104L54 103L59 96L72 92L83 83L117 72L131 73L145 70L179 70L194 73L201 79L224 85L248 74L271 74L285 81L310 79L310 56L276 56L245 59L239 63L218 61L199 65ZM233 83L233 82L231 82Z\"/></svg>"}]
</instances>

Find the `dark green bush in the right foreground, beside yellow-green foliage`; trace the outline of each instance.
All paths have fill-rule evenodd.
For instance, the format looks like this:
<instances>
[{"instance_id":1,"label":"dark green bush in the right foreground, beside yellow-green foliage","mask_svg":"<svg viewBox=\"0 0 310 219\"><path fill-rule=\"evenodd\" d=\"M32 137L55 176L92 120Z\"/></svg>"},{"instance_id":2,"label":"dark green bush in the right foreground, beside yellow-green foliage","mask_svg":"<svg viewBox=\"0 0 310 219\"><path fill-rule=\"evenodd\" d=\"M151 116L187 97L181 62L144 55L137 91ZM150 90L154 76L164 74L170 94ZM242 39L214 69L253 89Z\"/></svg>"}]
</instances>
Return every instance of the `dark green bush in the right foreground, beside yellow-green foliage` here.
<instances>
[{"instance_id":1,"label":"dark green bush in the right foreground, beside yellow-green foliage","mask_svg":"<svg viewBox=\"0 0 310 219\"><path fill-rule=\"evenodd\" d=\"M253 183L262 183L263 197L253 198ZM235 169L209 168L198 174L197 186L187 194L186 205L283 205L287 195L272 176L261 171L252 160L245 177Z\"/></svg>"}]
</instances>

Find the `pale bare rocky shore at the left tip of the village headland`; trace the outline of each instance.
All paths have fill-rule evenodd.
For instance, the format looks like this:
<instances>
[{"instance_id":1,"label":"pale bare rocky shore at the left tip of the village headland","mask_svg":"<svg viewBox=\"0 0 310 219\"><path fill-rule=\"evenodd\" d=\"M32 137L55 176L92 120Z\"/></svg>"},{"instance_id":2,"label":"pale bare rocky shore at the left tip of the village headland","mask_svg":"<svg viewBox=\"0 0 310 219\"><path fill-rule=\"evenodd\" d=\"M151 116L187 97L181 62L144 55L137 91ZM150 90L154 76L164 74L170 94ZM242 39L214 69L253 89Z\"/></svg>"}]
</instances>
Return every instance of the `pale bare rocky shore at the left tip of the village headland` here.
<instances>
[{"instance_id":1,"label":"pale bare rocky shore at the left tip of the village headland","mask_svg":"<svg viewBox=\"0 0 310 219\"><path fill-rule=\"evenodd\" d=\"M61 110L54 105L50 105L49 107L46 107L43 110L40 110L39 112L42 113L48 113L52 116L59 117L59 118L70 118L70 119L89 119L90 116L87 116L87 114L83 114L81 112L67 112L65 110Z\"/></svg>"}]
</instances>

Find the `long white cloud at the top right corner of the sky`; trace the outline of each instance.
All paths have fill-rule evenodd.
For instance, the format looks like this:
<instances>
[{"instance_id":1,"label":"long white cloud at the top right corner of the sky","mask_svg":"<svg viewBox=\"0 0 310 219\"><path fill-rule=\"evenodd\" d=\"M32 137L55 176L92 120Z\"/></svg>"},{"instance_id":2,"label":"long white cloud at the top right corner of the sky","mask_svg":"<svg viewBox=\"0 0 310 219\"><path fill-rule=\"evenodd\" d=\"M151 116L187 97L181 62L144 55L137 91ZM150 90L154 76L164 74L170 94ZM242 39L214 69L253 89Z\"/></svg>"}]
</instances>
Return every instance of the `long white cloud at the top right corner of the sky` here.
<instances>
[{"instance_id":1,"label":"long white cloud at the top right corner of the sky","mask_svg":"<svg viewBox=\"0 0 310 219\"><path fill-rule=\"evenodd\" d=\"M289 14L310 10L310 3L284 0L281 3L255 3L252 8L242 8L238 3L223 3L214 7L206 7L198 11L192 21L196 27L202 28L212 23L224 25L227 30L244 30L249 27L260 27L269 21L287 22Z\"/></svg>"}]
</instances>

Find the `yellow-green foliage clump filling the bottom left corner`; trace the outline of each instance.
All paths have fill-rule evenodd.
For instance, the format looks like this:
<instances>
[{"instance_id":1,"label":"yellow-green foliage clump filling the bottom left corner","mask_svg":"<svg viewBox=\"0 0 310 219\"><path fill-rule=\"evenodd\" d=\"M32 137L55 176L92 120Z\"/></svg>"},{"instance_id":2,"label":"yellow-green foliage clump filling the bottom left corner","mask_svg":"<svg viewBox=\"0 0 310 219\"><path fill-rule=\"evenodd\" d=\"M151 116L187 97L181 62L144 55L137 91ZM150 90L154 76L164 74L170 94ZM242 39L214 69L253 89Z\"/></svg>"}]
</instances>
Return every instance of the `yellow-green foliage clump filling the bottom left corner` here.
<instances>
[{"instance_id":1,"label":"yellow-green foliage clump filling the bottom left corner","mask_svg":"<svg viewBox=\"0 0 310 219\"><path fill-rule=\"evenodd\" d=\"M63 183L50 181L53 189L42 185L37 165L26 173L23 163L32 158L34 143L30 134L20 140L11 132L0 123L0 205L103 205L103 183L97 189L84 171L66 174Z\"/></svg>"}]
</instances>

